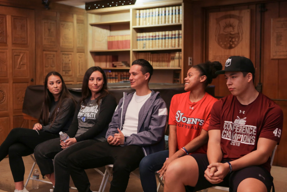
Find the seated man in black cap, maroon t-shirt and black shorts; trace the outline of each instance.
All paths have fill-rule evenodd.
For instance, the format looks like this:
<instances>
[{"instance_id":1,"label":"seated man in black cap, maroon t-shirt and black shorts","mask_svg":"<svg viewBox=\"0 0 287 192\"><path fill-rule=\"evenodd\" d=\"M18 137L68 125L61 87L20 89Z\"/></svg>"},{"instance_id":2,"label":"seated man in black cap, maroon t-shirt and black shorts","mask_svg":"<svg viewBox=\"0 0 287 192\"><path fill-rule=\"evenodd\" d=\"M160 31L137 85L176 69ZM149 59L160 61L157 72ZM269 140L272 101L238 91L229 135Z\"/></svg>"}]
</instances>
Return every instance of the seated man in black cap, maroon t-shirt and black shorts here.
<instances>
[{"instance_id":1,"label":"seated man in black cap, maroon t-shirt and black shorts","mask_svg":"<svg viewBox=\"0 0 287 192\"><path fill-rule=\"evenodd\" d=\"M281 139L283 112L255 90L254 72L252 62L240 56L228 58L225 69L216 72L225 74L232 95L212 107L207 155L172 161L164 192L196 192L211 186L229 187L230 192L270 192L270 154Z\"/></svg>"}]
</instances>

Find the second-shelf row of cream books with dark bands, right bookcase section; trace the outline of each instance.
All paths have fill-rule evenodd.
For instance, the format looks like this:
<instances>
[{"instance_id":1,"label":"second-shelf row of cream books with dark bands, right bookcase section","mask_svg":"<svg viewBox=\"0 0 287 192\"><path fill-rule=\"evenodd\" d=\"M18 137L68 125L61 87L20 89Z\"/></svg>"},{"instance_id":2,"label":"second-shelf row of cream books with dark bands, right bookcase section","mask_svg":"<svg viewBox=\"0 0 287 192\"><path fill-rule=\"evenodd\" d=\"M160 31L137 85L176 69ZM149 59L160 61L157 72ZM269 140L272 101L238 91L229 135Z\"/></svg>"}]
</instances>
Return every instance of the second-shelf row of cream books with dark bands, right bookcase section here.
<instances>
[{"instance_id":1,"label":"second-shelf row of cream books with dark bands, right bookcase section","mask_svg":"<svg viewBox=\"0 0 287 192\"><path fill-rule=\"evenodd\" d=\"M182 32L141 32L137 33L136 42L138 49L177 48L182 44Z\"/></svg>"}]
</instances>

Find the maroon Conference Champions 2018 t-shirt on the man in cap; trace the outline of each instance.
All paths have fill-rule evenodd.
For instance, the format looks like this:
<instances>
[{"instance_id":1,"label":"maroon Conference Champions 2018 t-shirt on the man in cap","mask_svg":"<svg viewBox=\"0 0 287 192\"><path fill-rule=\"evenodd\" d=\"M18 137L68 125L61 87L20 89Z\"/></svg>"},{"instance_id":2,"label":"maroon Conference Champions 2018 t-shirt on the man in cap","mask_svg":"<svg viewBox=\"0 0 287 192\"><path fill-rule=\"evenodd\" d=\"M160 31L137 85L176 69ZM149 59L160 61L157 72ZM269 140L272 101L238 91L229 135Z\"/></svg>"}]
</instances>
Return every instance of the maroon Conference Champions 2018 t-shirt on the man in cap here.
<instances>
[{"instance_id":1,"label":"maroon Conference Champions 2018 t-shirt on the man in cap","mask_svg":"<svg viewBox=\"0 0 287 192\"><path fill-rule=\"evenodd\" d=\"M255 151L260 137L280 142L283 111L261 93L248 105L233 95L221 98L214 103L210 115L208 130L221 131L223 160L237 160ZM270 172L270 158L262 166Z\"/></svg>"}]
</instances>

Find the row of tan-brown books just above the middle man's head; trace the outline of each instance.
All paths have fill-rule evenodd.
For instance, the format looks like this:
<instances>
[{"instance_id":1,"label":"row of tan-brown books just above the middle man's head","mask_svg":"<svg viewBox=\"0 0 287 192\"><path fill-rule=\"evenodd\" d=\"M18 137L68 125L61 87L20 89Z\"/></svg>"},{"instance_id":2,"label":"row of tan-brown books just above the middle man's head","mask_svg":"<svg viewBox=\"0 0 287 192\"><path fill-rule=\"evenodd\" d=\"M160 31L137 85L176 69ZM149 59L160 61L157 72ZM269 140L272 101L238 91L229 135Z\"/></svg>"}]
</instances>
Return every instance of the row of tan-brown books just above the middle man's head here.
<instances>
[{"instance_id":1,"label":"row of tan-brown books just above the middle man's head","mask_svg":"<svg viewBox=\"0 0 287 192\"><path fill-rule=\"evenodd\" d=\"M181 52L137 53L137 58L147 60L153 67L181 67Z\"/></svg>"}]
</instances>

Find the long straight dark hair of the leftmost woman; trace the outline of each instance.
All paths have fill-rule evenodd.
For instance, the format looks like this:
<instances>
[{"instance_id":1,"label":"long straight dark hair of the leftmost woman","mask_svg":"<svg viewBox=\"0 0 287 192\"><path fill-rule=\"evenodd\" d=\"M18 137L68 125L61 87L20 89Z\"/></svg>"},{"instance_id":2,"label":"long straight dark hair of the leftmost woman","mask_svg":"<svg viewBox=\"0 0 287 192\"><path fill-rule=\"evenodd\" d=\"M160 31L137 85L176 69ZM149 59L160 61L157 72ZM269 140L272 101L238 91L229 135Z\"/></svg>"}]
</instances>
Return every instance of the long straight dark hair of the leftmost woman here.
<instances>
[{"instance_id":1,"label":"long straight dark hair of the leftmost woman","mask_svg":"<svg viewBox=\"0 0 287 192\"><path fill-rule=\"evenodd\" d=\"M61 81L62 81L62 91L60 93L60 96L59 96L59 101L57 103L57 106L55 107L54 111L51 113L51 115L49 115L49 108L51 106L51 103L52 103L52 100L54 100L54 96L53 94L48 90L48 78L51 76L51 75L55 75L55 76L58 76L60 77ZM48 125L49 123L49 119L53 120L51 125L53 124L53 122L55 121L56 119L56 116L57 116L57 113L58 113L58 109L61 108L61 104L63 102L63 100L65 98L72 98L75 105L76 105L76 101L75 99L73 98L73 96L70 94L68 88L66 87L66 84L64 82L64 79L63 77L60 75L60 73L56 72L56 71L51 71L49 72L46 77L45 77L45 84L44 84L44 103L43 103L43 107L42 107L42 111L41 111L41 116L40 116L40 119L42 120L43 124L44 125ZM50 116L50 118L49 118Z\"/></svg>"}]
</instances>

